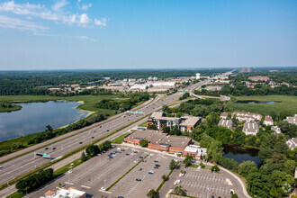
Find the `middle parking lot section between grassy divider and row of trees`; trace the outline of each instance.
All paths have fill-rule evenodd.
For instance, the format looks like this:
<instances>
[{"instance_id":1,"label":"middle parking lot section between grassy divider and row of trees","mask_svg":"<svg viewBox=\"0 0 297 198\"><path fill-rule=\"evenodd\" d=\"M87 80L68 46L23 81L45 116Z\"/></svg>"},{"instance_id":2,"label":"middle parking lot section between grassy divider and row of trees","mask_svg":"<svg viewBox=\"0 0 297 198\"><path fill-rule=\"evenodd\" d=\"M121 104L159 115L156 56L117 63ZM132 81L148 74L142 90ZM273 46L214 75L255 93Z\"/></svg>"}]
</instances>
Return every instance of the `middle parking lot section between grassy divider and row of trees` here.
<instances>
[{"instance_id":1,"label":"middle parking lot section between grassy divider and row of trees","mask_svg":"<svg viewBox=\"0 0 297 198\"><path fill-rule=\"evenodd\" d=\"M148 190L157 189L162 182L162 175L167 175L169 170L166 168L174 157L170 157L160 153L150 153L146 158L146 162L141 162L139 166L134 168L128 175L115 184L112 189L112 196L123 197L146 197ZM154 168L155 165L158 168ZM139 170L142 168L142 170ZM148 171L154 171L154 174L148 174ZM141 181L136 181L136 178Z\"/></svg>"}]
</instances>

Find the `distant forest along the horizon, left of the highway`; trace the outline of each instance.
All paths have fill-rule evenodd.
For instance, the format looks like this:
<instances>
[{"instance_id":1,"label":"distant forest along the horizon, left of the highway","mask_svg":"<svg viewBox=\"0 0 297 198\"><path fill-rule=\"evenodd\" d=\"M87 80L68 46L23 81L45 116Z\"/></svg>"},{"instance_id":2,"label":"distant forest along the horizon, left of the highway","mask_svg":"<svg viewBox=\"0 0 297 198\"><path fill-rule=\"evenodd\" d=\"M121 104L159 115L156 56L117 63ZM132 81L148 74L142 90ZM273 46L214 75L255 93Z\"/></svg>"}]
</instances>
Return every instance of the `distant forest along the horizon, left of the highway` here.
<instances>
[{"instance_id":1,"label":"distant forest along the horizon, left of the highway","mask_svg":"<svg viewBox=\"0 0 297 198\"><path fill-rule=\"evenodd\" d=\"M68 71L2 71L0 72L0 95L17 94L50 94L49 86L57 85L103 85L98 82L103 77L112 79L159 78L193 76L199 72L202 76L210 76L228 71L223 69L205 70L174 70L174 69L142 69L142 70L68 70Z\"/></svg>"}]
</instances>

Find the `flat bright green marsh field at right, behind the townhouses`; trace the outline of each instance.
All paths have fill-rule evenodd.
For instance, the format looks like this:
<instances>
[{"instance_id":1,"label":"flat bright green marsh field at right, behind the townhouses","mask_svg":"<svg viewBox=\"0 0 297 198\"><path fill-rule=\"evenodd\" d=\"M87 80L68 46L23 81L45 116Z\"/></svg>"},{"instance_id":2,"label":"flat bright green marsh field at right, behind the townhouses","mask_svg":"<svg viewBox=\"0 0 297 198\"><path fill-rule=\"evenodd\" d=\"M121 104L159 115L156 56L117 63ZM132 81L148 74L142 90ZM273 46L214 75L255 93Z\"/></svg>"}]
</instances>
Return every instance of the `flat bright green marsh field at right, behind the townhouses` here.
<instances>
[{"instance_id":1,"label":"flat bright green marsh field at right, behind the townhouses","mask_svg":"<svg viewBox=\"0 0 297 198\"><path fill-rule=\"evenodd\" d=\"M228 106L234 111L257 112L261 114L269 114L270 112L291 112L297 113L297 96L288 95L264 95L264 96L238 96L238 101L275 101L279 103L233 103L229 102Z\"/></svg>"}]
</instances>

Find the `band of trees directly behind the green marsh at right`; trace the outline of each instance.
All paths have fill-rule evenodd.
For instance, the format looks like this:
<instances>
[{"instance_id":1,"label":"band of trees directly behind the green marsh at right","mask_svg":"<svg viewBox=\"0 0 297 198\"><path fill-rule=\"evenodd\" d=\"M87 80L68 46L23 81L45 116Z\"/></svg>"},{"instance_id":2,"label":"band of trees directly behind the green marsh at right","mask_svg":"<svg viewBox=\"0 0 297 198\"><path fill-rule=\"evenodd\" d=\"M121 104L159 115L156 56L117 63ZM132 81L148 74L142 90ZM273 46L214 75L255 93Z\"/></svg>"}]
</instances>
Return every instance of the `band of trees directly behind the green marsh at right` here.
<instances>
[{"instance_id":1,"label":"band of trees directly behind the green marsh at right","mask_svg":"<svg viewBox=\"0 0 297 198\"><path fill-rule=\"evenodd\" d=\"M269 85L255 85L254 88L247 88L247 86L237 83L235 87L224 85L220 92L223 95L269 95L269 94L286 94L297 95L297 88L287 85L276 86L271 88Z\"/></svg>"}]
</instances>

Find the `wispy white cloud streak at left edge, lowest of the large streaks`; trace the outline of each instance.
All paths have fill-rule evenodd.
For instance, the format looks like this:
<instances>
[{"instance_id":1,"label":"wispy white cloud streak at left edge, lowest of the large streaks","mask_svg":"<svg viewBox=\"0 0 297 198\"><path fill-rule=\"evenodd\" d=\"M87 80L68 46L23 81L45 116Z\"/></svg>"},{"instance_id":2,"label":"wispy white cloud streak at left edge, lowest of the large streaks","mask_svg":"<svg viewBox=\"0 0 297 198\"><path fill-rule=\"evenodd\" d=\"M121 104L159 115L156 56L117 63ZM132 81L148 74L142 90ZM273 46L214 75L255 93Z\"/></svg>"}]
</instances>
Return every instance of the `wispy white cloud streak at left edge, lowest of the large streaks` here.
<instances>
[{"instance_id":1,"label":"wispy white cloud streak at left edge, lowest of the large streaks","mask_svg":"<svg viewBox=\"0 0 297 198\"><path fill-rule=\"evenodd\" d=\"M21 19L11 18L7 16L0 15L0 27L3 28L13 28L25 31L47 31L49 27L41 26L35 23L24 21Z\"/></svg>"}]
</instances>

